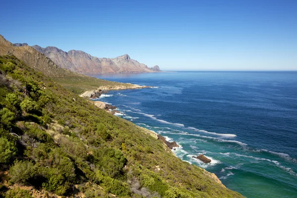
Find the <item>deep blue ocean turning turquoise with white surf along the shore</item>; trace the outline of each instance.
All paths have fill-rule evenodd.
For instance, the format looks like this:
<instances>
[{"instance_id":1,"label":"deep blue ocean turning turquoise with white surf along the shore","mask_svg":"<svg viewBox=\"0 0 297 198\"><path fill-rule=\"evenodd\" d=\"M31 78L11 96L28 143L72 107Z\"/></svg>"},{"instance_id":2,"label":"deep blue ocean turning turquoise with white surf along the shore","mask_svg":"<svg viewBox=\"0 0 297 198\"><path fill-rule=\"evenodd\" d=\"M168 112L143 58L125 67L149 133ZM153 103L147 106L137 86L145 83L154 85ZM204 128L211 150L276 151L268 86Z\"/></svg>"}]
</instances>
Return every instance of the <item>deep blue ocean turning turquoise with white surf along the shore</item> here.
<instances>
[{"instance_id":1,"label":"deep blue ocean turning turquoise with white surf along the shore","mask_svg":"<svg viewBox=\"0 0 297 198\"><path fill-rule=\"evenodd\" d=\"M227 188L247 198L297 198L297 72L91 76L152 86L98 100L176 141L176 156L215 173ZM198 154L211 163L192 157Z\"/></svg>"}]
</instances>

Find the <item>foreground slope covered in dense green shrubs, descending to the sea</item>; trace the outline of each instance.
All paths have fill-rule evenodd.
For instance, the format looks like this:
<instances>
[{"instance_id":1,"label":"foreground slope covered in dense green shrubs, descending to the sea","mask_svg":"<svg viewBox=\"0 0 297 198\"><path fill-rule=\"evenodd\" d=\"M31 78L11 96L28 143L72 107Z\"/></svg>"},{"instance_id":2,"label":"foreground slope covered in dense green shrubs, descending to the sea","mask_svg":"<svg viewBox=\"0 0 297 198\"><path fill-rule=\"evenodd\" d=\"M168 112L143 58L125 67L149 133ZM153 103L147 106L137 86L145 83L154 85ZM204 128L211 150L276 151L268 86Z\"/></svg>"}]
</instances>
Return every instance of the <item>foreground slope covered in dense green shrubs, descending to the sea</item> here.
<instances>
[{"instance_id":1,"label":"foreground slope covered in dense green shrubs, descending to the sea","mask_svg":"<svg viewBox=\"0 0 297 198\"><path fill-rule=\"evenodd\" d=\"M6 198L32 197L22 186L47 197L242 197L14 56L0 56L0 171Z\"/></svg>"}]
</instances>

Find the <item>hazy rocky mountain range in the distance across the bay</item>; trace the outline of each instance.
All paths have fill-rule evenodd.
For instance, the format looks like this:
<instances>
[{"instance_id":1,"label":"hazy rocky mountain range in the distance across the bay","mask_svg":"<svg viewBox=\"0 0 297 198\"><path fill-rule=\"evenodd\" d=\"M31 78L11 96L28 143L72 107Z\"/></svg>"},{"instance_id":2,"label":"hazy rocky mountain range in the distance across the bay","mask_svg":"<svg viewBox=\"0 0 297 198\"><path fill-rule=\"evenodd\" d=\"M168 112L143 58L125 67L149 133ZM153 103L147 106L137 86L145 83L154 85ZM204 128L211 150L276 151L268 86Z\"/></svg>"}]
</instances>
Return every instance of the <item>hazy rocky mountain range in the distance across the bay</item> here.
<instances>
[{"instance_id":1,"label":"hazy rocky mountain range in the distance across the bay","mask_svg":"<svg viewBox=\"0 0 297 198\"><path fill-rule=\"evenodd\" d=\"M128 54L115 58L98 58L79 50L65 52L56 47L42 48L37 45L32 47L61 67L78 73L150 73L160 71L159 68L154 70L131 59Z\"/></svg>"}]
</instances>

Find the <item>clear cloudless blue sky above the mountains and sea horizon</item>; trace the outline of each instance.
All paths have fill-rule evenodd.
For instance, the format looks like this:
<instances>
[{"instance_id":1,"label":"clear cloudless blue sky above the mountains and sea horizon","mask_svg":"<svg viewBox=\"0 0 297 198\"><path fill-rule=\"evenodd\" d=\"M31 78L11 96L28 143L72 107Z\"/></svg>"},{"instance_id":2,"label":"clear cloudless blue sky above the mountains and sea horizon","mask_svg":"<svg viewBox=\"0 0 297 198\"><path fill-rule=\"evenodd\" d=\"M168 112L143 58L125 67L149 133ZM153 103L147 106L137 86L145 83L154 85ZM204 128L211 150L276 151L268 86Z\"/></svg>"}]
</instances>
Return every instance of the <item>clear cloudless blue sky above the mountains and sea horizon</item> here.
<instances>
[{"instance_id":1,"label":"clear cloudless blue sky above the mountains and sea horizon","mask_svg":"<svg viewBox=\"0 0 297 198\"><path fill-rule=\"evenodd\" d=\"M164 70L297 70L297 0L6 0L0 34Z\"/></svg>"}]
</instances>

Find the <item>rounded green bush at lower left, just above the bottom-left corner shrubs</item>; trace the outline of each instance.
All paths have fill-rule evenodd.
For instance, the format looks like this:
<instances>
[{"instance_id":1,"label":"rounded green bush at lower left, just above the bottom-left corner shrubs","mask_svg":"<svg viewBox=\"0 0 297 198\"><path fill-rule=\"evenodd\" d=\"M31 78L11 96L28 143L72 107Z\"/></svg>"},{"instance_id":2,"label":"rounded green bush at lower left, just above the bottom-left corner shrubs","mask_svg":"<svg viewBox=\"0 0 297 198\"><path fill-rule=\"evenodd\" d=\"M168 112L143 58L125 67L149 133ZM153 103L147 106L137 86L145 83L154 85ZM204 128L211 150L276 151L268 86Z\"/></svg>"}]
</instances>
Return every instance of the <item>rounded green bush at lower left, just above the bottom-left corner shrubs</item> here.
<instances>
[{"instance_id":1,"label":"rounded green bush at lower left, just above the bottom-left corner shrubs","mask_svg":"<svg viewBox=\"0 0 297 198\"><path fill-rule=\"evenodd\" d=\"M14 165L10 167L10 181L12 183L27 184L28 180L34 177L35 167L30 161L14 161Z\"/></svg>"}]
</instances>

